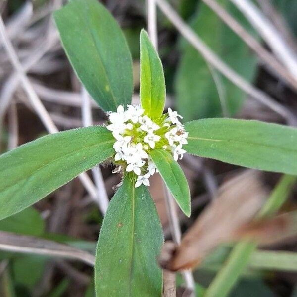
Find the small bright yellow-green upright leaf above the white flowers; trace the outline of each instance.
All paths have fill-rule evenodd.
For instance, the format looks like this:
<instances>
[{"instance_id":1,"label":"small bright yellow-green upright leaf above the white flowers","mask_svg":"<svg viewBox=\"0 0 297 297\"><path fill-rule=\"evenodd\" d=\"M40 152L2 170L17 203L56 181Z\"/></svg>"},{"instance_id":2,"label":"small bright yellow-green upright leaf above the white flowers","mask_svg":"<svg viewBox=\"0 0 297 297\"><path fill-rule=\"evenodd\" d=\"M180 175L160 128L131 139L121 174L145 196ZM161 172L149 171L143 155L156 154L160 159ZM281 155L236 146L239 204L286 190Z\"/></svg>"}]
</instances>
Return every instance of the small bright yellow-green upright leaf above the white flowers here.
<instances>
[{"instance_id":1,"label":"small bright yellow-green upright leaf above the white flowers","mask_svg":"<svg viewBox=\"0 0 297 297\"><path fill-rule=\"evenodd\" d=\"M162 62L145 30L140 33L140 101L145 113L159 118L164 110L166 89Z\"/></svg>"}]
</instances>

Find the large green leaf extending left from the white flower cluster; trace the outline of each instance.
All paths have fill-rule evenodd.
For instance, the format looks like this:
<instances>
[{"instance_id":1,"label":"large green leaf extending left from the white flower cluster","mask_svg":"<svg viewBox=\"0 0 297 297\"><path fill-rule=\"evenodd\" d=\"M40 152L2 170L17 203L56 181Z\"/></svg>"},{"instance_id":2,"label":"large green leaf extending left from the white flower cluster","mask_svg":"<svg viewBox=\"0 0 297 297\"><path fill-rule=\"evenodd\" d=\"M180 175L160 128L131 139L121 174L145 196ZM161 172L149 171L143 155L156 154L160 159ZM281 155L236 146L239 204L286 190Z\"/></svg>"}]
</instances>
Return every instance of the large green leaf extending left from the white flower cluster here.
<instances>
[{"instance_id":1,"label":"large green leaf extending left from the white flower cluster","mask_svg":"<svg viewBox=\"0 0 297 297\"><path fill-rule=\"evenodd\" d=\"M47 135L0 156L0 219L111 157L113 143L110 131L95 126Z\"/></svg>"}]
</instances>

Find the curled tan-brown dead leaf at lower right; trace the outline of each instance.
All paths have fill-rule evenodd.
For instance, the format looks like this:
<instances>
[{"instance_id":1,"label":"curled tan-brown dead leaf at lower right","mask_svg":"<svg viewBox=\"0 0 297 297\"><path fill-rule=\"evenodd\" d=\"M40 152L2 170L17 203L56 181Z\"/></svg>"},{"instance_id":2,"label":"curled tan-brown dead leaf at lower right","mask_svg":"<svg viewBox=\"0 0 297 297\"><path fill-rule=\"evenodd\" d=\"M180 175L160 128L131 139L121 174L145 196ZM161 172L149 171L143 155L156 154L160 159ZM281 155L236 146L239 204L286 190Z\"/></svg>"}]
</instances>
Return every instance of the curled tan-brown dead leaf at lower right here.
<instances>
[{"instance_id":1,"label":"curled tan-brown dead leaf at lower right","mask_svg":"<svg viewBox=\"0 0 297 297\"><path fill-rule=\"evenodd\" d=\"M176 249L164 245L159 263L173 271L193 268L217 245L232 240L264 202L266 191L259 173L248 170L225 183L218 197L188 230ZM171 256L170 256L171 255Z\"/></svg>"}]
</instances>

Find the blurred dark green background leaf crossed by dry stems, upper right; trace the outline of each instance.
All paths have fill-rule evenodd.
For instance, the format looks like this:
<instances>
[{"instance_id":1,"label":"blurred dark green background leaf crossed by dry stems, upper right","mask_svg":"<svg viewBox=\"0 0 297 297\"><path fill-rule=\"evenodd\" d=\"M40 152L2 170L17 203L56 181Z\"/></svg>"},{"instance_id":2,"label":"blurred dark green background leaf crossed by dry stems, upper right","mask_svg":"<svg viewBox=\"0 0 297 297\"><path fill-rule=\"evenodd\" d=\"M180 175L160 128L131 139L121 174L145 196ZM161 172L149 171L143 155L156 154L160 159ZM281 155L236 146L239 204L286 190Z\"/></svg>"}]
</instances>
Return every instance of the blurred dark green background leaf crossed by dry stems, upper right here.
<instances>
[{"instance_id":1,"label":"blurred dark green background leaf crossed by dry stems, upper right","mask_svg":"<svg viewBox=\"0 0 297 297\"><path fill-rule=\"evenodd\" d=\"M220 5L239 19L244 27L252 28L245 17L228 0ZM247 45L202 1L191 21L198 36L247 81L256 75L256 56ZM219 87L218 87L219 86ZM222 106L227 113L236 113L246 99L246 94L225 77L211 69L201 54L183 40L181 59L176 74L177 109L185 121L222 116ZM221 93L221 98L218 93ZM222 99L222 103L220 100ZM224 103L225 101L225 103Z\"/></svg>"}]
</instances>

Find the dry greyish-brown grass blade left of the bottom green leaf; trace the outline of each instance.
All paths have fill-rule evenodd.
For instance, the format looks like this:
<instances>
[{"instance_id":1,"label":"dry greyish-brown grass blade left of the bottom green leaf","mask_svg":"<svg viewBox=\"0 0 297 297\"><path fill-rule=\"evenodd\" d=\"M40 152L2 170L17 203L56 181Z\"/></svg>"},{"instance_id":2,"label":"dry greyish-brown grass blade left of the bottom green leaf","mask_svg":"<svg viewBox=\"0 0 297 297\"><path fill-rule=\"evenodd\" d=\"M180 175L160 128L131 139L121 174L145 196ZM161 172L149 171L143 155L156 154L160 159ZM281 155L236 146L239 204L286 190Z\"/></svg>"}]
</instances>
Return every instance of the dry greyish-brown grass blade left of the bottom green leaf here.
<instances>
[{"instance_id":1,"label":"dry greyish-brown grass blade left of the bottom green leaf","mask_svg":"<svg viewBox=\"0 0 297 297\"><path fill-rule=\"evenodd\" d=\"M0 250L80 260L90 266L94 266L95 263L95 257L86 251L33 236L4 231L0 231Z\"/></svg>"}]
</instances>

